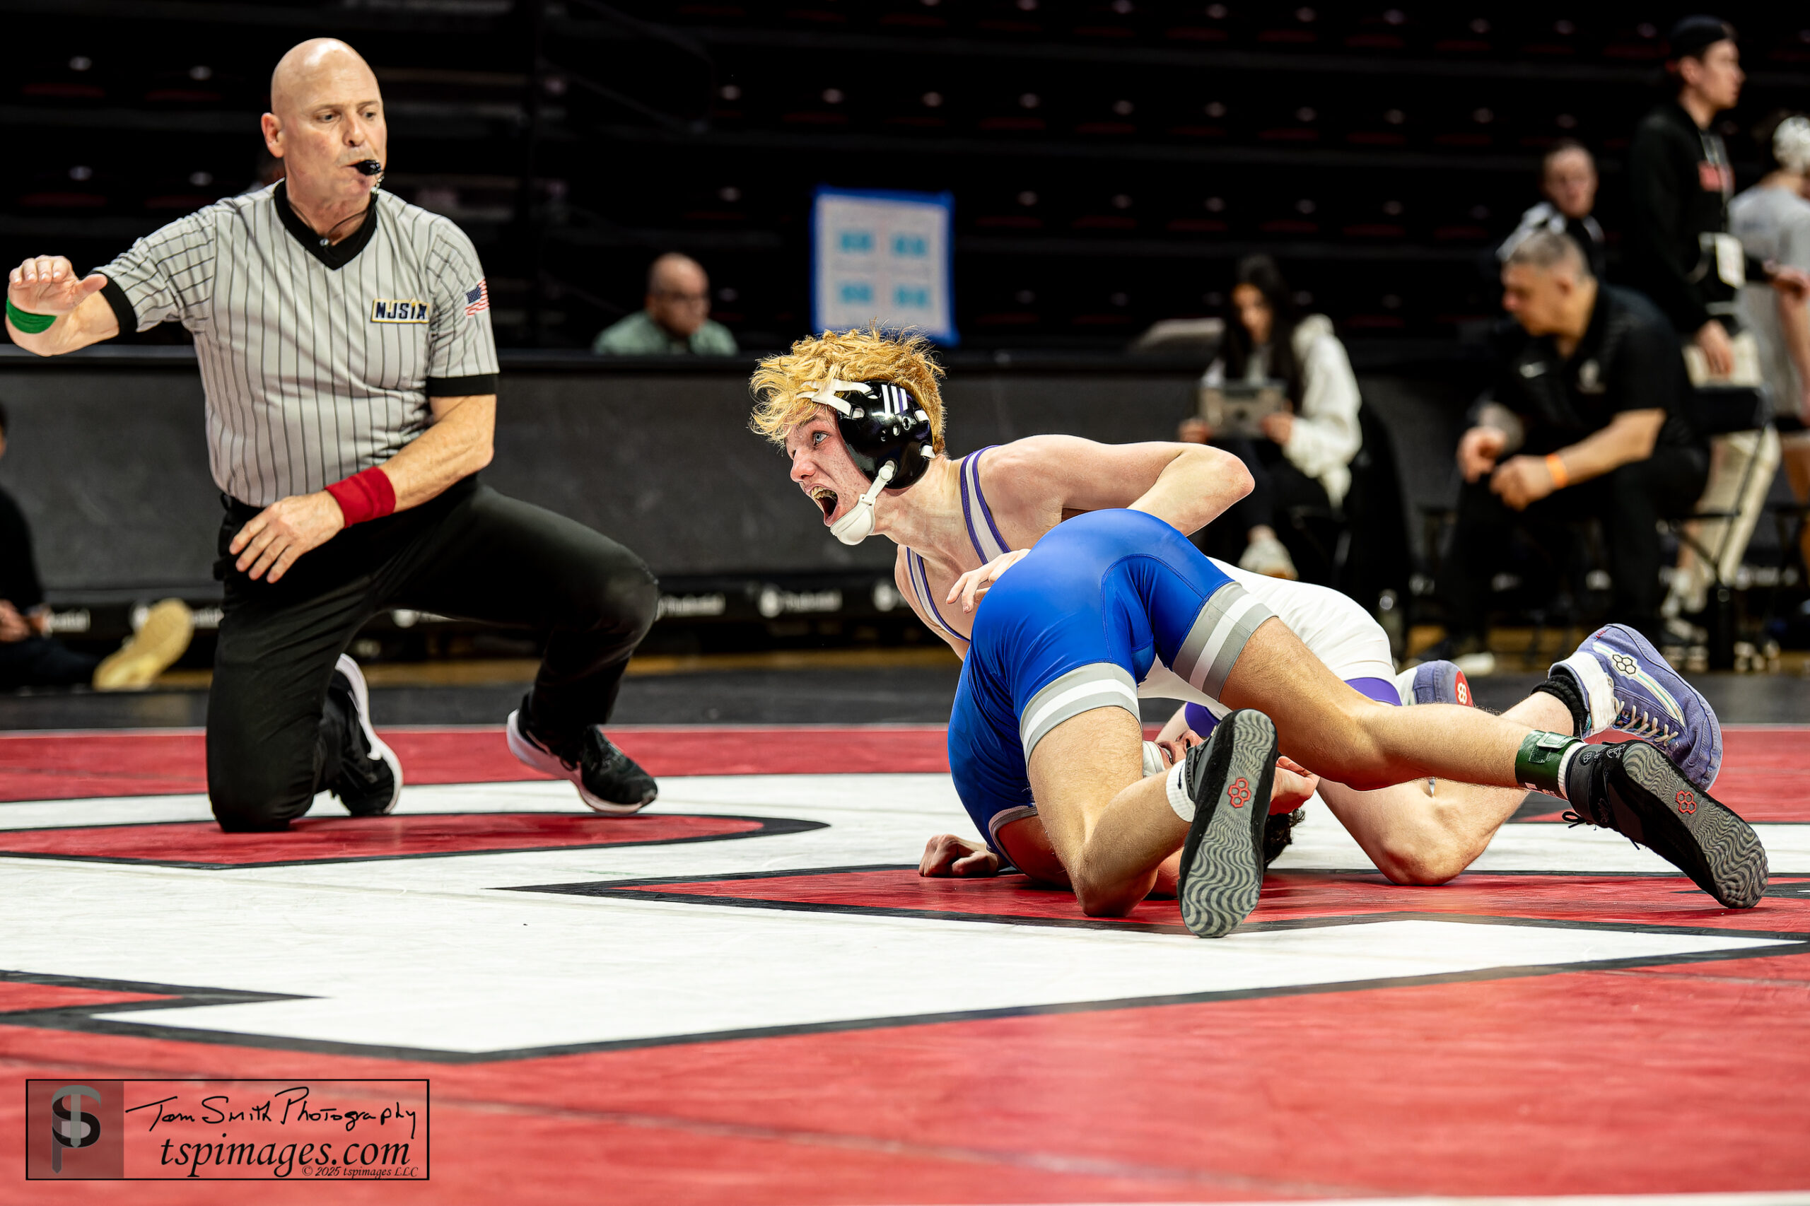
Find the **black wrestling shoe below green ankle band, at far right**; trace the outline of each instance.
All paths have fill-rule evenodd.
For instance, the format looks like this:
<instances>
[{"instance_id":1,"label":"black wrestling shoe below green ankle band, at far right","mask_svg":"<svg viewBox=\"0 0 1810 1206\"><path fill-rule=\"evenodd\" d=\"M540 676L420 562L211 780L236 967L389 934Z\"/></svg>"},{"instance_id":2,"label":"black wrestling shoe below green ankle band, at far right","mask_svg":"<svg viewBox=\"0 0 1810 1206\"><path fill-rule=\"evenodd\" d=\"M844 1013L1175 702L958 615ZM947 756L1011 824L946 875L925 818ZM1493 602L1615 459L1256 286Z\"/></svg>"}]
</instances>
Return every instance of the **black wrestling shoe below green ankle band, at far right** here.
<instances>
[{"instance_id":1,"label":"black wrestling shoe below green ankle band, at far right","mask_svg":"<svg viewBox=\"0 0 1810 1206\"><path fill-rule=\"evenodd\" d=\"M1767 851L1754 828L1643 741L1580 750L1566 793L1586 800L1566 820L1649 847L1729 909L1752 909L1767 891Z\"/></svg>"}]
</instances>

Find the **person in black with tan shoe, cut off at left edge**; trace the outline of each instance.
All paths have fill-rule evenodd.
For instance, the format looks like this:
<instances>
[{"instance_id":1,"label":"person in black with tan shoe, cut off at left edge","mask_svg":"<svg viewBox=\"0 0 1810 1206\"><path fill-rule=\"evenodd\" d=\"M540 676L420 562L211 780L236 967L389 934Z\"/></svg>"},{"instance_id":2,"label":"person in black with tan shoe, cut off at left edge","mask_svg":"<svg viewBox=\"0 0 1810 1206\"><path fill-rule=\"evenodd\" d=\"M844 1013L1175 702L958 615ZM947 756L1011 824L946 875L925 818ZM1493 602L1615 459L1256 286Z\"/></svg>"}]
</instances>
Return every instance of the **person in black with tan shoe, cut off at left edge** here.
<instances>
[{"instance_id":1,"label":"person in black with tan shoe, cut off at left edge","mask_svg":"<svg viewBox=\"0 0 1810 1206\"><path fill-rule=\"evenodd\" d=\"M0 456L5 456L7 415L0 406ZM78 686L130 690L176 665L194 634L194 616L177 599L150 608L145 625L105 661L80 654L51 636L51 608L38 585L31 525L13 496L0 489L0 690Z\"/></svg>"}]
</instances>

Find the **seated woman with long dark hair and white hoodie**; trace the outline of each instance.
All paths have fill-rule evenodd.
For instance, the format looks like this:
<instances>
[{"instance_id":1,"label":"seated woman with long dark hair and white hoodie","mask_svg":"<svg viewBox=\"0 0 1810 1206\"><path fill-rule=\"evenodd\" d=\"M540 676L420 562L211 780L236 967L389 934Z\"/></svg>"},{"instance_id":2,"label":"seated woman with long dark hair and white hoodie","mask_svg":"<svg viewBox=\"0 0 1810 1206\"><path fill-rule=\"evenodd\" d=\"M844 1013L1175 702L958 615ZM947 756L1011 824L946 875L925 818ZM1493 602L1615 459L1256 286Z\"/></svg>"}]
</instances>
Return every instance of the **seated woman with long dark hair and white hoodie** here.
<instances>
[{"instance_id":1,"label":"seated woman with long dark hair and white hoodie","mask_svg":"<svg viewBox=\"0 0 1810 1206\"><path fill-rule=\"evenodd\" d=\"M1350 489L1350 462L1363 436L1358 429L1358 378L1332 321L1298 317L1294 295L1269 255L1238 264L1234 319L1205 384L1280 380L1291 411L1263 420L1263 438L1216 438L1205 420L1182 422L1178 438L1216 444L1251 471L1254 487L1218 522L1202 531L1207 552L1240 569L1272 578L1300 578L1298 563L1314 567L1309 581L1332 585L1330 565L1289 523L1289 507L1338 511Z\"/></svg>"}]
</instances>

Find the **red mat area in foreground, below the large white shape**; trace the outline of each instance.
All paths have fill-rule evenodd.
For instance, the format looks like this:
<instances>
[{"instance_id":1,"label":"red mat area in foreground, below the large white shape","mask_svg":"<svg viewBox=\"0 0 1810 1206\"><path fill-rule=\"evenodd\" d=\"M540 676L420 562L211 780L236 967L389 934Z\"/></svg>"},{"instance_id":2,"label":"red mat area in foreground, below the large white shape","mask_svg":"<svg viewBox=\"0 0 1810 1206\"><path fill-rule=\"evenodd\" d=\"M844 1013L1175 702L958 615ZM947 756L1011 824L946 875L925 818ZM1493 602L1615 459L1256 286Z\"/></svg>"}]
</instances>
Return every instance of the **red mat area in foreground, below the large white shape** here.
<instances>
[{"instance_id":1,"label":"red mat area in foreground, below the large white shape","mask_svg":"<svg viewBox=\"0 0 1810 1206\"><path fill-rule=\"evenodd\" d=\"M45 1034L0 1070L431 1077L427 1186L514 1206L1692 1193L1810 1184L1810 956L1041 1014L469 1067ZM22 1099L0 1094L0 1134ZM130 1186L237 1204L243 1184ZM118 1202L107 1182L14 1202Z\"/></svg>"}]
</instances>

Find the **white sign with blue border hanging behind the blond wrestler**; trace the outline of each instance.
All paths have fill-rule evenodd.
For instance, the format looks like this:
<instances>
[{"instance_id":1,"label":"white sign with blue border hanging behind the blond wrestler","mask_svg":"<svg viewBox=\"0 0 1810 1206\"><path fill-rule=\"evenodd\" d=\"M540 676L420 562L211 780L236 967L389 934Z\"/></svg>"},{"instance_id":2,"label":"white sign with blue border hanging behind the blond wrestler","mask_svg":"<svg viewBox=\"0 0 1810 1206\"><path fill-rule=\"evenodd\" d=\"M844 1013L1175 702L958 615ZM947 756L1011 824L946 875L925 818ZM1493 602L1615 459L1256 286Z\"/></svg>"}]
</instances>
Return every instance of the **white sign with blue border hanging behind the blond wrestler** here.
<instances>
[{"instance_id":1,"label":"white sign with blue border hanging behind the blond wrestler","mask_svg":"<svg viewBox=\"0 0 1810 1206\"><path fill-rule=\"evenodd\" d=\"M818 188L811 205L811 330L880 321L956 344L948 192Z\"/></svg>"}]
</instances>

